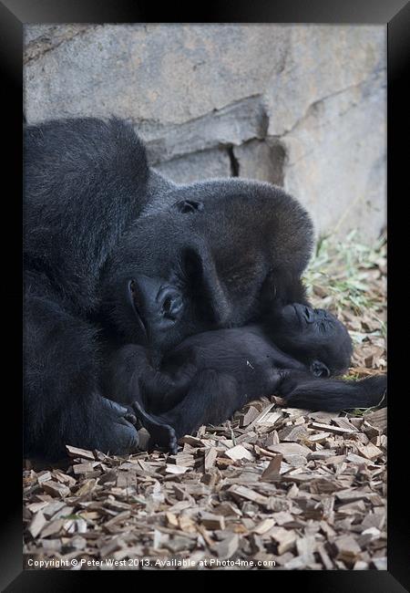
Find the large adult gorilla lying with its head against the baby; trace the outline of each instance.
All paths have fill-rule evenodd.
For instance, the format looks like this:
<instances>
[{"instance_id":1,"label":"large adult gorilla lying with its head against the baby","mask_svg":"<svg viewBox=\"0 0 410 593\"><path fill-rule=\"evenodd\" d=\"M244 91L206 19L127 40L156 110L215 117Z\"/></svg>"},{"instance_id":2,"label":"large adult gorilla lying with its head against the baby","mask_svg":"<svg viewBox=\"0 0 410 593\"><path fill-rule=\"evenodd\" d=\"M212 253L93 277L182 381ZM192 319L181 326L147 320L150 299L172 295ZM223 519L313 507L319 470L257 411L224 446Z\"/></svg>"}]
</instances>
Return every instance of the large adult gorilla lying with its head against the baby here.
<instances>
[{"instance_id":1,"label":"large adult gorilla lying with its head against the baby","mask_svg":"<svg viewBox=\"0 0 410 593\"><path fill-rule=\"evenodd\" d=\"M121 346L160 359L192 334L306 302L313 229L299 203L268 183L169 182L123 121L26 128L25 200L28 455L136 448L102 380Z\"/></svg>"}]
</instances>

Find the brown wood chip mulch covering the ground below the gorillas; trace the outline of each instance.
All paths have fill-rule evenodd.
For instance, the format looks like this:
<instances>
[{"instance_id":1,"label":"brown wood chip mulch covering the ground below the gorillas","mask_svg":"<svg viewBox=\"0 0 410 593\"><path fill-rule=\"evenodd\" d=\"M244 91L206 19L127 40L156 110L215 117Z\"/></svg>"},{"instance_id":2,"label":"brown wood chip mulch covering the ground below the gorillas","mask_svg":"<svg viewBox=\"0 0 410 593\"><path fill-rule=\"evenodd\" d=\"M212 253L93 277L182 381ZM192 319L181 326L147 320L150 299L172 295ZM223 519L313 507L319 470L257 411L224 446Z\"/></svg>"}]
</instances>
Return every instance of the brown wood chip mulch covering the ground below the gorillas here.
<instances>
[{"instance_id":1,"label":"brown wood chip mulch covering the ground below the gorillas","mask_svg":"<svg viewBox=\"0 0 410 593\"><path fill-rule=\"evenodd\" d=\"M385 409L279 403L201 427L177 455L26 462L26 567L385 569Z\"/></svg>"}]
</instances>

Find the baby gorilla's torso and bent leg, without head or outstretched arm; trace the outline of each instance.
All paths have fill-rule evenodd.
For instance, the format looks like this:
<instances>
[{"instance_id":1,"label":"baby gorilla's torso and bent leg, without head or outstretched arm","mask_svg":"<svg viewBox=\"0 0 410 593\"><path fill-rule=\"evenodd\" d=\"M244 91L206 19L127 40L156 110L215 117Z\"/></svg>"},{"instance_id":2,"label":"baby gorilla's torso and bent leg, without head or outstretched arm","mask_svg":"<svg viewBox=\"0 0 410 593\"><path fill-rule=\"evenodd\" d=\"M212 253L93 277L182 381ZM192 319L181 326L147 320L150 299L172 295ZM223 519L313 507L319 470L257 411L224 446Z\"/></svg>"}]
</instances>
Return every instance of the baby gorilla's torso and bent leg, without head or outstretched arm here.
<instances>
[{"instance_id":1,"label":"baby gorilla's torso and bent leg, without head or outstretched arm","mask_svg":"<svg viewBox=\"0 0 410 593\"><path fill-rule=\"evenodd\" d=\"M165 404L159 401L158 414L150 413L149 399L147 409L140 401L134 409L150 432L151 442L175 450L177 440L201 424L219 424L248 401L275 392L282 369L300 370L304 365L269 344L252 327L192 336L169 353L163 368L170 371L177 397L170 390ZM176 375L172 369L177 369ZM175 399L179 402L170 409Z\"/></svg>"}]
</instances>

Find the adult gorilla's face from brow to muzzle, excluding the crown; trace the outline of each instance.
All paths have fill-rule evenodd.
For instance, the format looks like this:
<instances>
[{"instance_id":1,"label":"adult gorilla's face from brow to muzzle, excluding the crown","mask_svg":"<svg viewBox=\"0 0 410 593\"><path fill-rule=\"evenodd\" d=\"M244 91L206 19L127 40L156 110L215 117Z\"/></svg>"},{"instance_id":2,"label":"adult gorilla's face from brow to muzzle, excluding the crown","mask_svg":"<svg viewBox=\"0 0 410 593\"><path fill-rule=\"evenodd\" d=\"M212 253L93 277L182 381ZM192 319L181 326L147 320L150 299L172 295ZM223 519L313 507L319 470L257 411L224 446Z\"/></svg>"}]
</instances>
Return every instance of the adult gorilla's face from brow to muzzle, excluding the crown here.
<instances>
[{"instance_id":1,"label":"adult gorilla's face from brow to muzzle, excluding the crown","mask_svg":"<svg viewBox=\"0 0 410 593\"><path fill-rule=\"evenodd\" d=\"M255 314L266 272L261 256L248 257L241 270L232 262L231 276L220 276L226 254L212 255L192 226L181 228L175 214L147 216L128 237L134 248L128 243L113 258L104 299L130 341L165 351L191 334L241 325Z\"/></svg>"}]
</instances>

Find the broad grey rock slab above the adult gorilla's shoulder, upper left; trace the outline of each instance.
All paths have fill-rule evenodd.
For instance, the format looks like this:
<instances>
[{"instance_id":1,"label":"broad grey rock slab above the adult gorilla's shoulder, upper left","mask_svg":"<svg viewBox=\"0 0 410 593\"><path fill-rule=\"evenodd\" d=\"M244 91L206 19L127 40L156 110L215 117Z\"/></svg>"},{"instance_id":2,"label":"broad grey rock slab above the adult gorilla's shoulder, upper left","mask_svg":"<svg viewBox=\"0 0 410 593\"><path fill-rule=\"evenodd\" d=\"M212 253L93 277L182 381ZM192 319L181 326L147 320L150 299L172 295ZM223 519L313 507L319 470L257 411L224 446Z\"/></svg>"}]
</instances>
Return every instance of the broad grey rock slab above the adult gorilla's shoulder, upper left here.
<instances>
[{"instance_id":1,"label":"broad grey rock slab above the adult gorilla's shoulder, upper left","mask_svg":"<svg viewBox=\"0 0 410 593\"><path fill-rule=\"evenodd\" d=\"M89 26L26 64L26 118L114 114L180 124L260 94L282 68L288 36L275 25Z\"/></svg>"}]
</instances>

